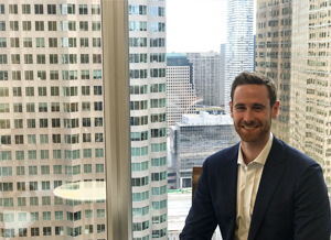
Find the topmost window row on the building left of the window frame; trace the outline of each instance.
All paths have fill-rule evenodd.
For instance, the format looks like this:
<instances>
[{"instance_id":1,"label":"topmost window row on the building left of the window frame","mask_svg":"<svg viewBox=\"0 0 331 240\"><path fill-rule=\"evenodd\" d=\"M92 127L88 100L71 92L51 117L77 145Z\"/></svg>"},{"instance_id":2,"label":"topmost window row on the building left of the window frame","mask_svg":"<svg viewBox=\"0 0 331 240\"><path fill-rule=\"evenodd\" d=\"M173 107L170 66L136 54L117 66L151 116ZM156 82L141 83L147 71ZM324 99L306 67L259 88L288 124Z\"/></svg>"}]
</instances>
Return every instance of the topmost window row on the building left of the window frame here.
<instances>
[{"instance_id":1,"label":"topmost window row on the building left of the window frame","mask_svg":"<svg viewBox=\"0 0 331 240\"><path fill-rule=\"evenodd\" d=\"M19 12L19 4L8 4L8 10L6 10L6 7L4 4L0 4L0 14L4 14L7 11L9 14L31 14L32 9L34 9L34 14L76 14L76 4L21 4L21 12ZM79 4L77 7L77 13L88 14L87 4ZM100 14L100 4L90 6L92 14Z\"/></svg>"}]
</instances>

